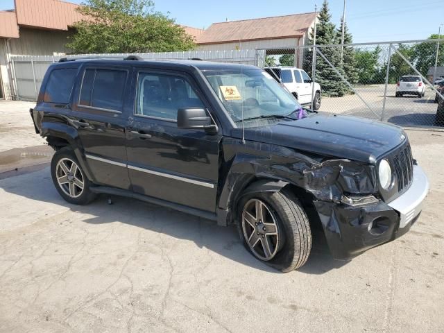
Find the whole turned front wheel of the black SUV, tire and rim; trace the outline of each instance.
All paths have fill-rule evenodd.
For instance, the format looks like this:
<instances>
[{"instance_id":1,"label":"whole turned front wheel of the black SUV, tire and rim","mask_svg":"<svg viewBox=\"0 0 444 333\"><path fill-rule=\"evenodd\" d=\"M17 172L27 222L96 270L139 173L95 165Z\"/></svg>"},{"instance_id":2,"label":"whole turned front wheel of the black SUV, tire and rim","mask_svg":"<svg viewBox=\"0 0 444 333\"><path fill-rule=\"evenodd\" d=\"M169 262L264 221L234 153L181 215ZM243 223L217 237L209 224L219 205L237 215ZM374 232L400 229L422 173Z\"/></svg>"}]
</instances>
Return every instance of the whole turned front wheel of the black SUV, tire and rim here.
<instances>
[{"instance_id":1,"label":"whole turned front wheel of the black SUV, tire and rim","mask_svg":"<svg viewBox=\"0 0 444 333\"><path fill-rule=\"evenodd\" d=\"M257 259L282 272L293 271L307 262L310 225L302 205L290 191L243 196L238 212L240 237Z\"/></svg>"}]
</instances>

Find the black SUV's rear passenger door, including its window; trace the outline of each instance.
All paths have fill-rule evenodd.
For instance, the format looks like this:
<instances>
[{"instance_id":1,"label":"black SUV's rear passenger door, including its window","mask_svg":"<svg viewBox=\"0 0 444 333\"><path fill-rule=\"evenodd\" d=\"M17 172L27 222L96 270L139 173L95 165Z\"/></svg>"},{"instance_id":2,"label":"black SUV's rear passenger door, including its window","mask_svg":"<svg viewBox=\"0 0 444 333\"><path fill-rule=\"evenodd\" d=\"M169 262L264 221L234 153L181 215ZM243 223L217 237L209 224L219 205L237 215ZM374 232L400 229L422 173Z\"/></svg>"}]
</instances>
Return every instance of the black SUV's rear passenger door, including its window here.
<instances>
[{"instance_id":1,"label":"black SUV's rear passenger door, including its window","mask_svg":"<svg viewBox=\"0 0 444 333\"><path fill-rule=\"evenodd\" d=\"M72 116L94 182L130 189L124 112L130 67L86 66L81 77Z\"/></svg>"}]
</instances>

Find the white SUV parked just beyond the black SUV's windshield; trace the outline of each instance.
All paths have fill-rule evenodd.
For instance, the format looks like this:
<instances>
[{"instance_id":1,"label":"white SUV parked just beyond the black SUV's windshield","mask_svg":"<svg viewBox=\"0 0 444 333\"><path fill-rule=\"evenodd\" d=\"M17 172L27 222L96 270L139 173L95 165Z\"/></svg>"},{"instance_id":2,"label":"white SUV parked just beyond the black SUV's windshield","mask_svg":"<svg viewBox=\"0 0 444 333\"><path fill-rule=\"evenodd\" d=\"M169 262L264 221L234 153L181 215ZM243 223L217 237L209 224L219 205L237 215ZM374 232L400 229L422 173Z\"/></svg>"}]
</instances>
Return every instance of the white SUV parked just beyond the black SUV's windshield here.
<instances>
[{"instance_id":1,"label":"white SUV parked just beyond the black SUV's windshield","mask_svg":"<svg viewBox=\"0 0 444 333\"><path fill-rule=\"evenodd\" d=\"M302 105L311 103L311 94L314 85L313 110L321 108L321 86L313 82L309 75L297 67L280 66L266 67L265 70L273 78L281 80L284 86L296 97Z\"/></svg>"}]
</instances>

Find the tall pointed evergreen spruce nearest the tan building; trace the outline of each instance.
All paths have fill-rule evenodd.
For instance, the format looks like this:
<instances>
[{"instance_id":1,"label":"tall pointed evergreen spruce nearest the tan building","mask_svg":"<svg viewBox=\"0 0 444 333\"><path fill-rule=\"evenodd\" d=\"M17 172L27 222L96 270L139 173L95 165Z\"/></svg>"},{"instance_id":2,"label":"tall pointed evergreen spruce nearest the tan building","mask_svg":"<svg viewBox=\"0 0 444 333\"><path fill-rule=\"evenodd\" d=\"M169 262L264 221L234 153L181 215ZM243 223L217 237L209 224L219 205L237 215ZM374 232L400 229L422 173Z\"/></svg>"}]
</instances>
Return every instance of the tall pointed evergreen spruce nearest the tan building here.
<instances>
[{"instance_id":1,"label":"tall pointed evergreen spruce nearest the tan building","mask_svg":"<svg viewBox=\"0 0 444 333\"><path fill-rule=\"evenodd\" d=\"M318 14L318 24L316 24L316 45L338 43L336 28L330 22L331 18L328 1L324 0L321 11ZM312 30L309 37L309 45L313 45L313 39L314 31ZM340 64L340 49L338 47L321 47L320 50L336 69L343 72ZM307 73L311 73L312 56L312 50L307 48L303 66ZM343 96L345 94L345 84L336 74L336 71L320 55L316 58L316 82L321 85L323 94L327 96Z\"/></svg>"}]
</instances>

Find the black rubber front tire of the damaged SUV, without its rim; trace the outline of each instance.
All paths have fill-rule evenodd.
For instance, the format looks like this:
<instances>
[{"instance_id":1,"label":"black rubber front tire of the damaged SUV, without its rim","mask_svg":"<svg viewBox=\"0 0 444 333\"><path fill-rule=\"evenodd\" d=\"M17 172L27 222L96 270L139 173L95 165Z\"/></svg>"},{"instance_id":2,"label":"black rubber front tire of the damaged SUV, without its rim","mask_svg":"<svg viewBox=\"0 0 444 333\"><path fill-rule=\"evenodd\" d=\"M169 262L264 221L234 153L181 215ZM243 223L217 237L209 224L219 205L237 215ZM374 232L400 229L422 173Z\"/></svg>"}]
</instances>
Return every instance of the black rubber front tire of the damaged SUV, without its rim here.
<instances>
[{"instance_id":1,"label":"black rubber front tire of the damaged SUV, without its rim","mask_svg":"<svg viewBox=\"0 0 444 333\"><path fill-rule=\"evenodd\" d=\"M238 231L244 246L250 251L242 230L241 214L243 205L250 198L264 200L273 210L278 219L278 227L282 228L284 245L273 259L264 262L268 266L284 273L294 271L307 262L311 250L311 228L298 198L289 190L277 192L259 192L244 196L239 201Z\"/></svg>"}]
</instances>

